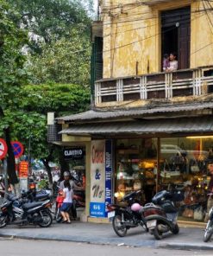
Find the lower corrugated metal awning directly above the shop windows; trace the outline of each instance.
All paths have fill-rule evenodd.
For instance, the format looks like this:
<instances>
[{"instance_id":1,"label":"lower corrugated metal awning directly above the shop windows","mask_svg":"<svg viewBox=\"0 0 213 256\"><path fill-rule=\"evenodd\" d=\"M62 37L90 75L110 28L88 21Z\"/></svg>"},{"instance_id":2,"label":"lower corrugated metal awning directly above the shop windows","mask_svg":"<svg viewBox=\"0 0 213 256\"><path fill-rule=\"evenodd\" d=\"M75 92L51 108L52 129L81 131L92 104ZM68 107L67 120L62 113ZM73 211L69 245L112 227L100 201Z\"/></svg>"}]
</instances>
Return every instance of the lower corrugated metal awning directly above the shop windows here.
<instances>
[{"instance_id":1,"label":"lower corrugated metal awning directly above the shop windows","mask_svg":"<svg viewBox=\"0 0 213 256\"><path fill-rule=\"evenodd\" d=\"M68 135L110 135L110 134L172 134L192 132L213 132L213 118L170 118L138 120L85 125L71 125L60 131Z\"/></svg>"}]
</instances>

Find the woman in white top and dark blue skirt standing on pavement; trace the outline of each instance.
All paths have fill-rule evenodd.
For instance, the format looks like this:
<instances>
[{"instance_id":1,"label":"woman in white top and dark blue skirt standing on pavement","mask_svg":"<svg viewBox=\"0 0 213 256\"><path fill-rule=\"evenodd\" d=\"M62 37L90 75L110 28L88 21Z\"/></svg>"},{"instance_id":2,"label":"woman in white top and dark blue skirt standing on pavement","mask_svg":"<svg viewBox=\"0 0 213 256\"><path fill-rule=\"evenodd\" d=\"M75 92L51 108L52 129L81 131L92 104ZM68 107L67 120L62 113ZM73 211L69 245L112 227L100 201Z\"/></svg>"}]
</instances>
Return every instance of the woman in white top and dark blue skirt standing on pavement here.
<instances>
[{"instance_id":1,"label":"woman in white top and dark blue skirt standing on pavement","mask_svg":"<svg viewBox=\"0 0 213 256\"><path fill-rule=\"evenodd\" d=\"M63 189L64 201L60 208L61 215L63 216L63 222L71 223L69 211L72 208L72 196L73 190L69 181L64 182L65 188Z\"/></svg>"}]
</instances>

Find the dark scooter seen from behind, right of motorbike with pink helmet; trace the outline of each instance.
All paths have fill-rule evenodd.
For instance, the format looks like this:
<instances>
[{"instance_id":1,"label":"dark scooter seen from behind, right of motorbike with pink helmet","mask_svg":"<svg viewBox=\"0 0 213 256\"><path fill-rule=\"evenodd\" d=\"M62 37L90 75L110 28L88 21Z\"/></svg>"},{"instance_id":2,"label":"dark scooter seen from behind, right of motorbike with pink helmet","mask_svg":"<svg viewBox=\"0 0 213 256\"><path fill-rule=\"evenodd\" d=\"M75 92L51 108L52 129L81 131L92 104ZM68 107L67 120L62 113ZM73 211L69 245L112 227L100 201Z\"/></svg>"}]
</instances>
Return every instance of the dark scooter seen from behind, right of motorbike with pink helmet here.
<instances>
[{"instance_id":1,"label":"dark scooter seen from behind, right of motorbike with pink helmet","mask_svg":"<svg viewBox=\"0 0 213 256\"><path fill-rule=\"evenodd\" d=\"M153 196L151 203L144 206L147 228L156 240L161 240L163 234L169 231L172 234L179 234L178 208L175 207L174 202L182 200L183 196L180 192L172 194L163 190Z\"/></svg>"}]
</instances>

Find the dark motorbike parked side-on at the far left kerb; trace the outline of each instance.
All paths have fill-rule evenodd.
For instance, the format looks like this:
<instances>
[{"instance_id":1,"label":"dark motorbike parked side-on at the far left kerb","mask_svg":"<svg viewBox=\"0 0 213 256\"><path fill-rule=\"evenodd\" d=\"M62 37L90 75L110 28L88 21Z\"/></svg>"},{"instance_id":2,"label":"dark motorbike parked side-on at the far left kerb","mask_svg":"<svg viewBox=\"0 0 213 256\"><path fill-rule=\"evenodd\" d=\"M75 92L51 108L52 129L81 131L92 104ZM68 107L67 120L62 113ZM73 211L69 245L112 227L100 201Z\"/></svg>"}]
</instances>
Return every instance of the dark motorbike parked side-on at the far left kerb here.
<instances>
[{"instance_id":1,"label":"dark motorbike parked side-on at the far left kerb","mask_svg":"<svg viewBox=\"0 0 213 256\"><path fill-rule=\"evenodd\" d=\"M1 206L0 227L9 224L39 225L49 227L53 222L50 212L50 200L42 202L28 202L16 195L7 194L6 201Z\"/></svg>"}]
</instances>

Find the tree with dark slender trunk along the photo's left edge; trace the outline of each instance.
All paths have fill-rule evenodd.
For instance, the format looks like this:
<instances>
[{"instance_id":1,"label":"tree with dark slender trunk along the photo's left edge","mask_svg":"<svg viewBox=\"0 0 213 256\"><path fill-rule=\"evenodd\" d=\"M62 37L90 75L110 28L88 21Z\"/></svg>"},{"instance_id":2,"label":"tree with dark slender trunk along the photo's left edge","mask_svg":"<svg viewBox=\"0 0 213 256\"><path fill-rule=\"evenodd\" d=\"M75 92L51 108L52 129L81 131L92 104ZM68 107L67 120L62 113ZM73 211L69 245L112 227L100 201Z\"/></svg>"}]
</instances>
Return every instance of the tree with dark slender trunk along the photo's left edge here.
<instances>
[{"instance_id":1,"label":"tree with dark slender trunk along the photo's left edge","mask_svg":"<svg viewBox=\"0 0 213 256\"><path fill-rule=\"evenodd\" d=\"M9 112L16 111L20 87L26 82L25 57L22 48L27 34L17 26L20 16L4 0L0 0L0 133L8 144L8 175L12 184L18 182L15 158L10 145L10 131L13 119Z\"/></svg>"}]
</instances>

